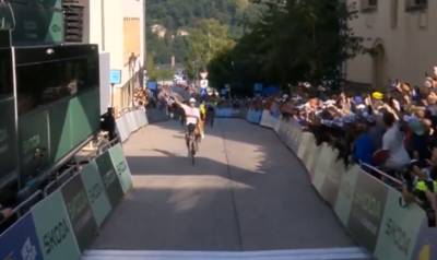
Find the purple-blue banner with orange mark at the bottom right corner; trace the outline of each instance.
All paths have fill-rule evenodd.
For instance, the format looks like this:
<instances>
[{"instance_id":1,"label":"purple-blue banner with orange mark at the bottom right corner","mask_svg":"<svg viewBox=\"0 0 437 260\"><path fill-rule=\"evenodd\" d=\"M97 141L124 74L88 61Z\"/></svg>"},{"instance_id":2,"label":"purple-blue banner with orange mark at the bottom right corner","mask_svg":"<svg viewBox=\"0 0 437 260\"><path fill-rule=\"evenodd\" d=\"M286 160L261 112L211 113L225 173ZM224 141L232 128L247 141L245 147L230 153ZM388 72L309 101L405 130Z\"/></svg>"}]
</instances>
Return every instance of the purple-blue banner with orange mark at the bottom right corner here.
<instances>
[{"instance_id":1,"label":"purple-blue banner with orange mark at the bottom right corner","mask_svg":"<svg viewBox=\"0 0 437 260\"><path fill-rule=\"evenodd\" d=\"M428 227L427 220L421 225L416 245L414 247L412 260L434 260L437 259L437 228Z\"/></svg>"}]
</instances>

